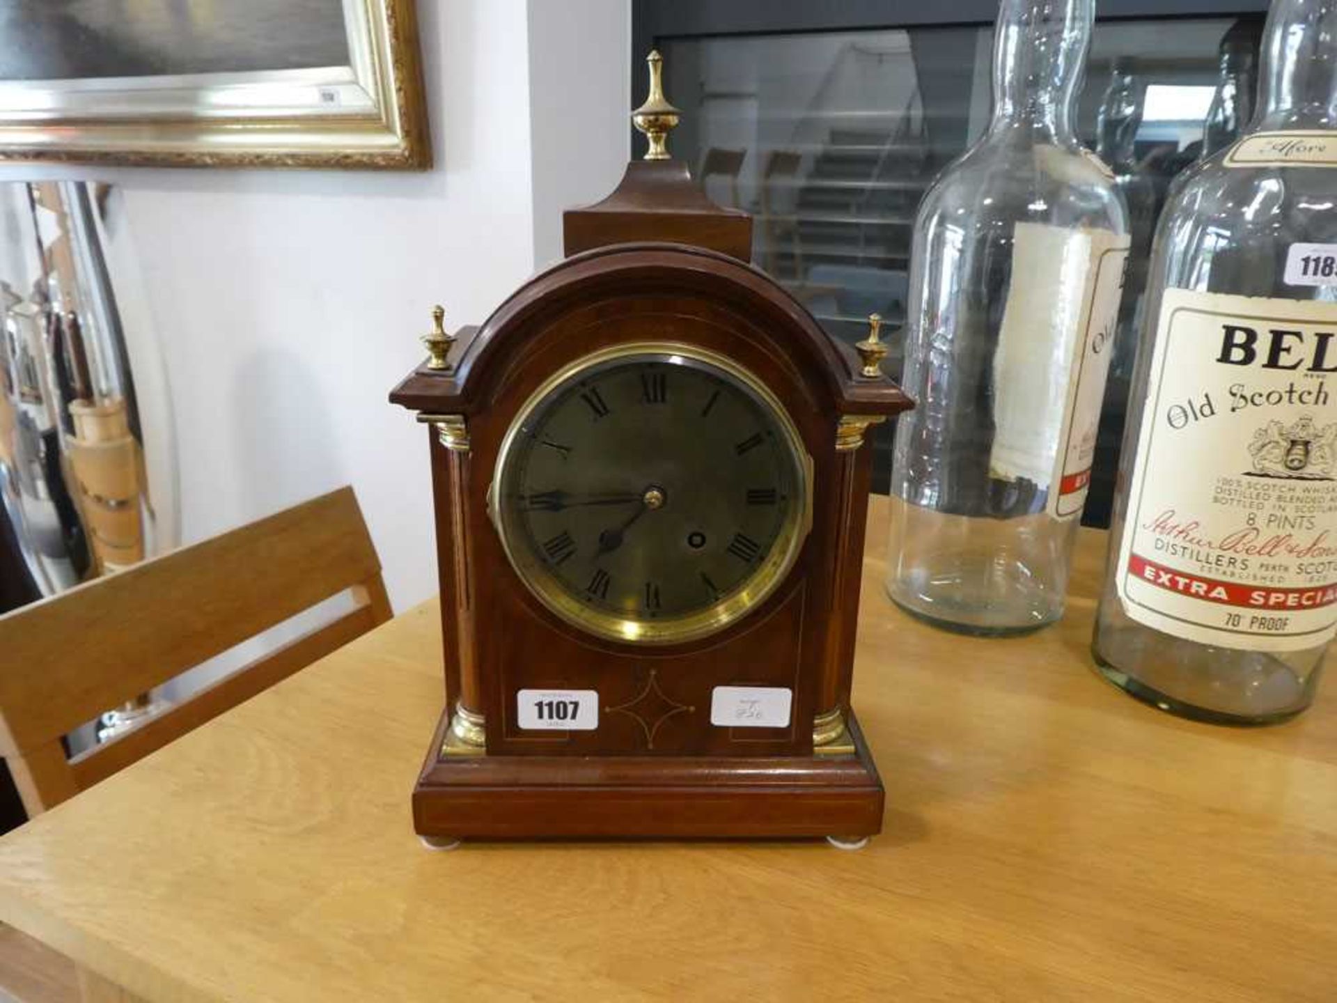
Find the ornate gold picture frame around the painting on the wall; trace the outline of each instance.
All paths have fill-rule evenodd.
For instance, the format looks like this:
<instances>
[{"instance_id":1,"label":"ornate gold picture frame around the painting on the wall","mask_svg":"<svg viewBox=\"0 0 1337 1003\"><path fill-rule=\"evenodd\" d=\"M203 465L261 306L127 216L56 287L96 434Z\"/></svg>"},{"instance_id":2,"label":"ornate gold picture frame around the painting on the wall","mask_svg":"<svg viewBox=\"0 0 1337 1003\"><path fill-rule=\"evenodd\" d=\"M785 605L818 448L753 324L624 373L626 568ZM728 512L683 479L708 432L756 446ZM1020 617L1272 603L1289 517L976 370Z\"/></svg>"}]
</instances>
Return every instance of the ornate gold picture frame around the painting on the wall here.
<instances>
[{"instance_id":1,"label":"ornate gold picture frame around the painting on the wall","mask_svg":"<svg viewBox=\"0 0 1337 1003\"><path fill-rule=\"evenodd\" d=\"M175 25L218 0L142 0L144 17ZM0 0L31 23L25 3ZM67 0L111 11L110 0ZM235 24L238 0L225 19ZM338 167L425 170L432 166L414 0L330 0L346 31L346 64L237 72L174 72L68 79L0 79L0 160L170 167ZM313 4L314 5L314 4ZM166 12L164 12L166 8ZM44 8L52 9L52 8ZM261 11L273 11L265 4ZM293 11L282 12L293 29ZM330 8L321 9L329 21ZM270 15L274 16L274 15ZM21 19L21 20L20 20ZM164 19L175 19L166 20ZM185 21L182 21L185 19ZM124 31L120 15L118 31ZM207 24L206 24L207 28ZM255 24L251 31L261 31ZM51 32L48 32L48 36ZM90 51L95 47L90 45ZM203 51L203 49L202 49ZM213 53L211 53L213 55ZM215 60L217 62L217 60ZM40 67L39 67L40 71ZM31 74L29 74L31 76Z\"/></svg>"}]
</instances>

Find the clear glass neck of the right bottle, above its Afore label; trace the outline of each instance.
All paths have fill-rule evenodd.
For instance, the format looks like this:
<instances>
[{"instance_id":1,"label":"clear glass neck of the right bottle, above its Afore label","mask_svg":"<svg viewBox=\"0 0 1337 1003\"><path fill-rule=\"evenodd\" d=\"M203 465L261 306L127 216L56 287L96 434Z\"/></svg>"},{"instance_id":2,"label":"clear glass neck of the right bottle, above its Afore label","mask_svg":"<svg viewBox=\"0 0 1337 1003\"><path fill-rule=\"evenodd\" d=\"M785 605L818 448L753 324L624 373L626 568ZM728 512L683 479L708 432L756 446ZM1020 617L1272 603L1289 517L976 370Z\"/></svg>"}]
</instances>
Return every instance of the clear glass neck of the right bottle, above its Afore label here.
<instances>
[{"instance_id":1,"label":"clear glass neck of the right bottle, above its Afore label","mask_svg":"<svg viewBox=\"0 0 1337 1003\"><path fill-rule=\"evenodd\" d=\"M1251 131L1337 128L1337 0L1273 0Z\"/></svg>"}]
</instances>

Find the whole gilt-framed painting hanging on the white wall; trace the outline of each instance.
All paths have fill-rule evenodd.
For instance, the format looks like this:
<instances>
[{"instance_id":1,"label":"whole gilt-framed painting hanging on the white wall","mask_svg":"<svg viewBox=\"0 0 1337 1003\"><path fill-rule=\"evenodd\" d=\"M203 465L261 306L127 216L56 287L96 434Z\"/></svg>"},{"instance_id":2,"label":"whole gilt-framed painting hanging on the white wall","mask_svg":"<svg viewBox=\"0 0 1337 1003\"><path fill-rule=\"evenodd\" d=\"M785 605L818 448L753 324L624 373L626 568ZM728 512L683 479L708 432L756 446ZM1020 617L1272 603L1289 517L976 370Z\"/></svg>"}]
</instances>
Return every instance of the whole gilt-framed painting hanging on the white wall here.
<instances>
[{"instance_id":1,"label":"whole gilt-framed painting hanging on the white wall","mask_svg":"<svg viewBox=\"0 0 1337 1003\"><path fill-rule=\"evenodd\" d=\"M413 0L0 0L0 159L431 166Z\"/></svg>"}]
</instances>

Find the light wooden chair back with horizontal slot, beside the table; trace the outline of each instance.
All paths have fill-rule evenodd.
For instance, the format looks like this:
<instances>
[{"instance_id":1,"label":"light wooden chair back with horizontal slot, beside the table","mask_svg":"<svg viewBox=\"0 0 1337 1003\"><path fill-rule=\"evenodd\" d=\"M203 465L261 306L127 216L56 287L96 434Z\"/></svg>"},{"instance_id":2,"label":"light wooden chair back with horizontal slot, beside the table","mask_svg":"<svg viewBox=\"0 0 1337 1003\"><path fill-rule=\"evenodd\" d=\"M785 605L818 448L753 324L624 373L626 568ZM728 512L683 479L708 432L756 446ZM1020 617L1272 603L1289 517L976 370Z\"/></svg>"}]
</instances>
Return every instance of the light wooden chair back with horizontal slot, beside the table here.
<instances>
[{"instance_id":1,"label":"light wooden chair back with horizontal slot, beside the table","mask_svg":"<svg viewBox=\"0 0 1337 1003\"><path fill-rule=\"evenodd\" d=\"M352 591L354 608L72 760L99 714ZM390 618L352 488L0 617L0 756L29 816Z\"/></svg>"}]
</instances>

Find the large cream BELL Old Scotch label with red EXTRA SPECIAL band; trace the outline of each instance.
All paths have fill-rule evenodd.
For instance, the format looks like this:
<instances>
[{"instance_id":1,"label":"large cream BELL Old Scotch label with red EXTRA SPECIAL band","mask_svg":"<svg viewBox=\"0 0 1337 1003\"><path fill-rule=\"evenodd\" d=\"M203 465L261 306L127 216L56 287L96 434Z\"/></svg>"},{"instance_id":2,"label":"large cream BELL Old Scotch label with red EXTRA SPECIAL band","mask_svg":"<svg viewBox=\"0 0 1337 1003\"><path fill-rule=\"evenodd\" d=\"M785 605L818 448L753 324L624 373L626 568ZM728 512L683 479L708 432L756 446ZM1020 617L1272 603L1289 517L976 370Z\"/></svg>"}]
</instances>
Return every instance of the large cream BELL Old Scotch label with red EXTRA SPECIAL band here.
<instances>
[{"instance_id":1,"label":"large cream BELL Old Scotch label with red EXTRA SPECIAL band","mask_svg":"<svg viewBox=\"0 0 1337 1003\"><path fill-rule=\"evenodd\" d=\"M1337 633L1337 304L1170 289L1116 583L1130 618L1255 651Z\"/></svg>"}]
</instances>

